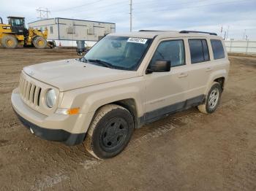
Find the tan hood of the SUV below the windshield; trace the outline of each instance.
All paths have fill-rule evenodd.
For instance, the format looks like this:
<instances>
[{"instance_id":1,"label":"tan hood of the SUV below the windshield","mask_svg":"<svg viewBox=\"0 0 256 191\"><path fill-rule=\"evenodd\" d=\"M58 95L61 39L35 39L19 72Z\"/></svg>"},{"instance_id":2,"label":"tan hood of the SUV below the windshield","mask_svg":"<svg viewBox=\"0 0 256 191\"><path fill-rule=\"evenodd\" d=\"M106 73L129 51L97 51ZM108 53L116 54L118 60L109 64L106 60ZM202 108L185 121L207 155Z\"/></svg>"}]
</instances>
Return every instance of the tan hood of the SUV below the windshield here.
<instances>
[{"instance_id":1,"label":"tan hood of the SUV below the windshield","mask_svg":"<svg viewBox=\"0 0 256 191\"><path fill-rule=\"evenodd\" d=\"M39 63L26 66L23 71L34 79L59 88L60 91L138 76L136 71L109 69L75 59Z\"/></svg>"}]
</instances>

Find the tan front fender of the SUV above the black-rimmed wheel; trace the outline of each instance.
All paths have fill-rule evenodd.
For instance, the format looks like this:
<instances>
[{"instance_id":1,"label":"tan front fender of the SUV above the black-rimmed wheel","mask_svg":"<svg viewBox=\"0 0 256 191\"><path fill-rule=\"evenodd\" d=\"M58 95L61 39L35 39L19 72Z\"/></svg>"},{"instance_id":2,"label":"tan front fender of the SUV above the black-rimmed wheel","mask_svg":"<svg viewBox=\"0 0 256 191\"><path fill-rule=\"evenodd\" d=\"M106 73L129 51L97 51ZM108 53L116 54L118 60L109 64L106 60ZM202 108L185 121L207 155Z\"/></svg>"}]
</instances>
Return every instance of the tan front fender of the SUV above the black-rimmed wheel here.
<instances>
[{"instance_id":1,"label":"tan front fender of the SUV above the black-rimmed wheel","mask_svg":"<svg viewBox=\"0 0 256 191\"><path fill-rule=\"evenodd\" d=\"M69 90L62 93L59 108L79 107L80 113L96 112L100 106L124 99L134 99L138 117L143 115L141 91L145 85L141 77L109 82L101 85Z\"/></svg>"}]
</instances>

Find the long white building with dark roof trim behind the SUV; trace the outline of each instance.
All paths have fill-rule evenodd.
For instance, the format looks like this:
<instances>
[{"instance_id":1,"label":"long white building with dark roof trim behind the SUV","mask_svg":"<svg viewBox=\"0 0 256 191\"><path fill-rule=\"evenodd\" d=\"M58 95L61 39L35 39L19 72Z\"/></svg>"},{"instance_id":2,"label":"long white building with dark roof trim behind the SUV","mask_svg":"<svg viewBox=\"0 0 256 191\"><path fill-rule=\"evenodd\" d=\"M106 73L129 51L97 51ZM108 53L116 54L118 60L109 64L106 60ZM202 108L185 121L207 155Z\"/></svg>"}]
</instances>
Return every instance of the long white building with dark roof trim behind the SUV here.
<instances>
[{"instance_id":1,"label":"long white building with dark roof trim behind the SUV","mask_svg":"<svg viewBox=\"0 0 256 191\"><path fill-rule=\"evenodd\" d=\"M106 34L116 32L115 23L61 17L37 20L29 23L29 27L41 31L48 28L48 40L55 40L57 46L69 47L76 47L77 40L84 40L92 46Z\"/></svg>"}]
</instances>

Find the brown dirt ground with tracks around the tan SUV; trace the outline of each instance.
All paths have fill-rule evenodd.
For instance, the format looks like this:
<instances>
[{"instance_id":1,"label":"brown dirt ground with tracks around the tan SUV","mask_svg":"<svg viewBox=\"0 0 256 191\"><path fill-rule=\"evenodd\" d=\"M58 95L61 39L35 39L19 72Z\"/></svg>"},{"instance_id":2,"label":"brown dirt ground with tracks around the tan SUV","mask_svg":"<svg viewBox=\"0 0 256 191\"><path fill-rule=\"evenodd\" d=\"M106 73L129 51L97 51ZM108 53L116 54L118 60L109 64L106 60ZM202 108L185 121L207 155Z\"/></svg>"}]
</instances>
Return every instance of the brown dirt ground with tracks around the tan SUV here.
<instances>
[{"instance_id":1,"label":"brown dirt ground with tracks around the tan SUV","mask_svg":"<svg viewBox=\"0 0 256 191\"><path fill-rule=\"evenodd\" d=\"M230 55L217 112L189 109L146 125L110 160L39 139L12 111L23 66L76 57L0 49L0 190L256 190L256 57Z\"/></svg>"}]
</instances>

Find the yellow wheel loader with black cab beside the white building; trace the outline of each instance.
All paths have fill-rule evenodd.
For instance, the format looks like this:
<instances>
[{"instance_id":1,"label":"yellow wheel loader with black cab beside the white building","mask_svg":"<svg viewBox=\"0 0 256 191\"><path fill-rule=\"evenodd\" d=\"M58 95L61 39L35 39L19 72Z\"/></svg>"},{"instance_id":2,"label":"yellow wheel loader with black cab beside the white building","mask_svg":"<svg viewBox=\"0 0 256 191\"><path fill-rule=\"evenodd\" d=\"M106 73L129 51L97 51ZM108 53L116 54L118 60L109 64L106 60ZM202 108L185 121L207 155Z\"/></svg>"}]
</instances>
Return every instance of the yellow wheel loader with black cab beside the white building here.
<instances>
[{"instance_id":1,"label":"yellow wheel loader with black cab beside the white building","mask_svg":"<svg viewBox=\"0 0 256 191\"><path fill-rule=\"evenodd\" d=\"M24 17L7 17L9 24L4 24L0 17L0 44L2 47L15 48L18 45L23 47L55 47L55 42L48 42L48 30L39 31L34 28L27 29Z\"/></svg>"}]
</instances>

